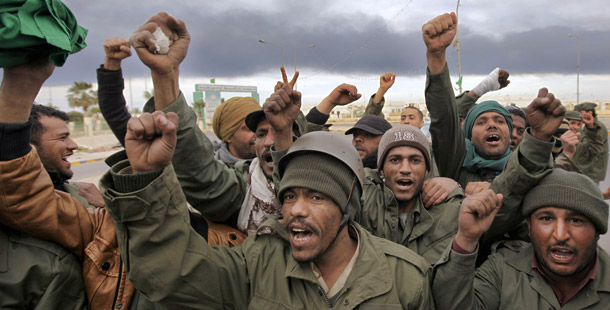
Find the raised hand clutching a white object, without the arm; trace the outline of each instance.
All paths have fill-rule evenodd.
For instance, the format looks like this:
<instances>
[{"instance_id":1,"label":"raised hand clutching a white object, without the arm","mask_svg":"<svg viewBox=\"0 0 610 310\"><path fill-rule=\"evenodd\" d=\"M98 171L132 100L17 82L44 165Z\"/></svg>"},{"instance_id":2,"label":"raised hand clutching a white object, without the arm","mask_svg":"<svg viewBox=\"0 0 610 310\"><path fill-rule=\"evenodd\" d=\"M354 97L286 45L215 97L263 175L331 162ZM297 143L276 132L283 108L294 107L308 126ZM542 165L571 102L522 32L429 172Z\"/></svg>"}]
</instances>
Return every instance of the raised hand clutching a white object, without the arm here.
<instances>
[{"instance_id":1,"label":"raised hand clutching a white object, without the arm","mask_svg":"<svg viewBox=\"0 0 610 310\"><path fill-rule=\"evenodd\" d=\"M169 52L165 55L155 54L156 44L153 33L157 27L161 27L172 42ZM140 60L153 73L167 74L178 70L180 63L186 57L191 37L182 20L161 12L151 17L146 24L140 26L131 35L129 41Z\"/></svg>"}]
</instances>

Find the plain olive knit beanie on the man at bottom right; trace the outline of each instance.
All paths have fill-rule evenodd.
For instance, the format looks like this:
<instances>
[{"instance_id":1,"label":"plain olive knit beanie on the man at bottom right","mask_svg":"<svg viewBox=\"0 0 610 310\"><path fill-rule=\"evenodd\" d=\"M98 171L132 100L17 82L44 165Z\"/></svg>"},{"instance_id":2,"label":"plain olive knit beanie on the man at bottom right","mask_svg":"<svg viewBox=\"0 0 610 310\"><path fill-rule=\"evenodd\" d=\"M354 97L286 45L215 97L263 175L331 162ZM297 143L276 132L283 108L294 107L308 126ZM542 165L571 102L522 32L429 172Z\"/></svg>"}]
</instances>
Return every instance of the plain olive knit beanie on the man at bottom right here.
<instances>
[{"instance_id":1,"label":"plain olive knit beanie on the man at bottom right","mask_svg":"<svg viewBox=\"0 0 610 310\"><path fill-rule=\"evenodd\" d=\"M574 210L586 216L600 234L608 231L608 204L597 185L587 176L553 169L523 200L523 216L542 207Z\"/></svg>"}]
</instances>

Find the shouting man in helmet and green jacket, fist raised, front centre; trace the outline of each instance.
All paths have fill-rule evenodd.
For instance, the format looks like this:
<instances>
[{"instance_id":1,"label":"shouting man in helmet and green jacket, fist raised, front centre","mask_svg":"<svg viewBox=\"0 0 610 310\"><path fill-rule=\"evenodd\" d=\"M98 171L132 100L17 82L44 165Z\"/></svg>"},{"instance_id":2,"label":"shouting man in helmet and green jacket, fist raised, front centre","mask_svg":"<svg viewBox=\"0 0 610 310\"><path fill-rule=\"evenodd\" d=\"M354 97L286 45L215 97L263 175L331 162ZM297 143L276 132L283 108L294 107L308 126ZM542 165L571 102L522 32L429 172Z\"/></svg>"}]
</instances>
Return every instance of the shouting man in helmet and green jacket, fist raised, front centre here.
<instances>
[{"instance_id":1,"label":"shouting man in helmet and green jacket, fist raised, front centre","mask_svg":"<svg viewBox=\"0 0 610 310\"><path fill-rule=\"evenodd\" d=\"M259 227L274 234L208 247L185 222L186 201L170 165L177 123L175 114L161 111L131 119L129 160L102 181L128 276L151 300L169 309L433 308L429 264L351 221L360 206L362 162L348 141L335 150L321 147L343 135L306 134L278 162L283 218ZM153 132L161 135L143 138Z\"/></svg>"}]
</instances>

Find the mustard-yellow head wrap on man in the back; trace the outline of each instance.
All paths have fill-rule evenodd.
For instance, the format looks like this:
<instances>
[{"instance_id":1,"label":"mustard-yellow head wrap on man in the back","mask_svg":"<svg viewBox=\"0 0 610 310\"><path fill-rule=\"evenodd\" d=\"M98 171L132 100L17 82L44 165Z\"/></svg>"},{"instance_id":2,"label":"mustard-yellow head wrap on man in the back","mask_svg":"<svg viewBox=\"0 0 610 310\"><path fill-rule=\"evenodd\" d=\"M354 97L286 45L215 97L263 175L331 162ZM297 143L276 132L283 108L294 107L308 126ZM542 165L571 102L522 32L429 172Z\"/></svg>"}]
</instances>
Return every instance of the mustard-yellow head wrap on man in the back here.
<instances>
[{"instance_id":1,"label":"mustard-yellow head wrap on man in the back","mask_svg":"<svg viewBox=\"0 0 610 310\"><path fill-rule=\"evenodd\" d=\"M252 97L233 97L216 108L212 118L214 134L222 142L227 142L237 131L246 116L261 107Z\"/></svg>"}]
</instances>

